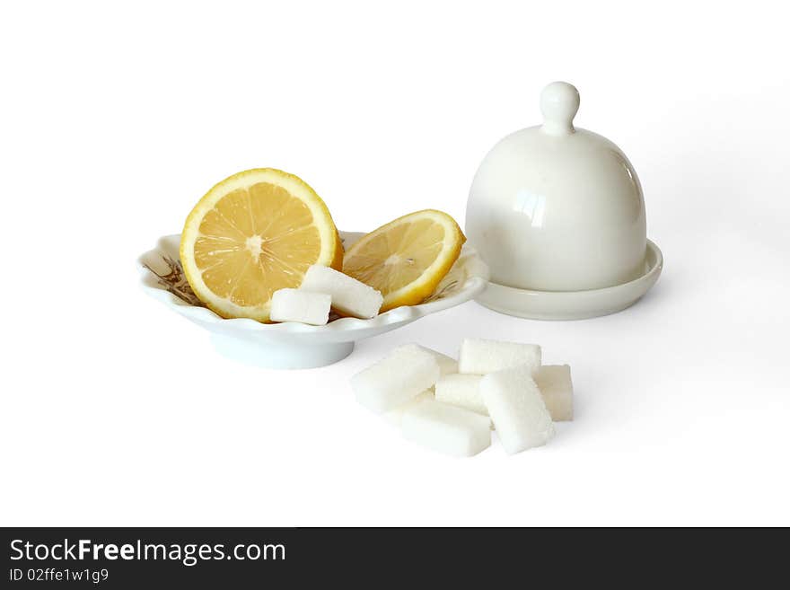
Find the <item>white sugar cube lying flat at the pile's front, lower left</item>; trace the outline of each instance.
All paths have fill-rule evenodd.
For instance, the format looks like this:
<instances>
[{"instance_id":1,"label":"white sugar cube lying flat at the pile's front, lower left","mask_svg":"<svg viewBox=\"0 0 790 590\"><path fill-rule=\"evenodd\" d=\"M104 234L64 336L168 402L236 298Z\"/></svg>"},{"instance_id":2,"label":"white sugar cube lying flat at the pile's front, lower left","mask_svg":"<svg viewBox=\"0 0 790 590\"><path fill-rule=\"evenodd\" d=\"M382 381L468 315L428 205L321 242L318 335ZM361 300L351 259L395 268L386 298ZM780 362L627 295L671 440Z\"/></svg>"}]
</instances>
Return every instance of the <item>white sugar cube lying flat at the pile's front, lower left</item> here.
<instances>
[{"instance_id":1,"label":"white sugar cube lying flat at the pile's front, lower left","mask_svg":"<svg viewBox=\"0 0 790 590\"><path fill-rule=\"evenodd\" d=\"M403 412L404 438L444 454L470 457L491 445L490 421L441 401L421 401Z\"/></svg>"}]
</instances>

